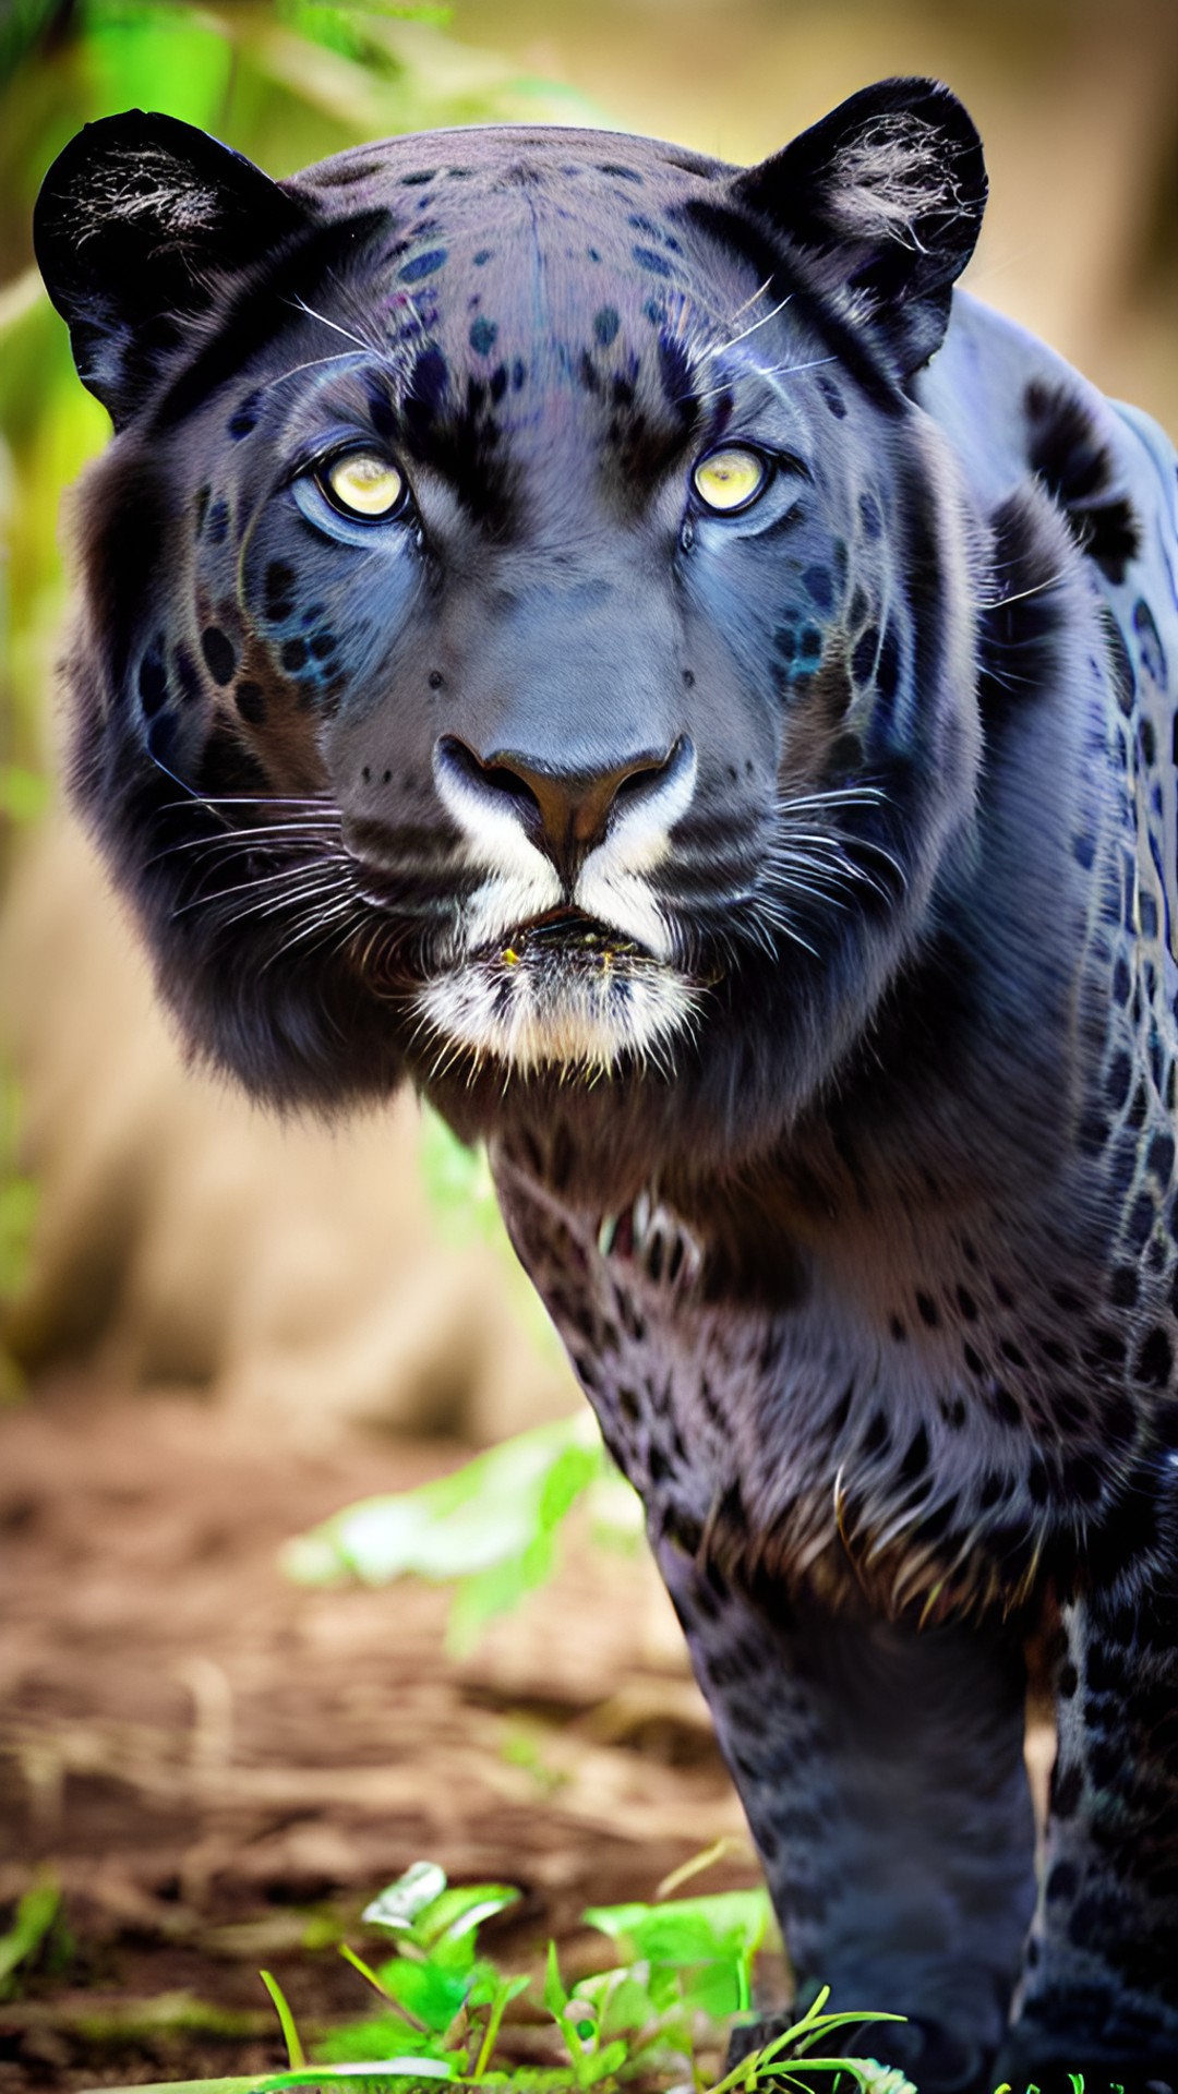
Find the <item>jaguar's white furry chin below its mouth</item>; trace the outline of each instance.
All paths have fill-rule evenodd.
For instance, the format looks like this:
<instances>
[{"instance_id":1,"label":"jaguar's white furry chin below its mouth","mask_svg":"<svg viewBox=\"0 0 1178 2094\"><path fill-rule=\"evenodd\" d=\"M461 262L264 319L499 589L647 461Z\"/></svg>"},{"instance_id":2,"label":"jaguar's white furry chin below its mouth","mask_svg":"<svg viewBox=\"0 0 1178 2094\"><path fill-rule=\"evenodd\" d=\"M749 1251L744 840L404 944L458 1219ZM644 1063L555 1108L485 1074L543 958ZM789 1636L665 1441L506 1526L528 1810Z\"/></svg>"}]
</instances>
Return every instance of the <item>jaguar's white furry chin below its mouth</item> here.
<instances>
[{"instance_id":1,"label":"jaguar's white furry chin below its mouth","mask_svg":"<svg viewBox=\"0 0 1178 2094\"><path fill-rule=\"evenodd\" d=\"M673 1074L702 995L702 982L602 923L562 915L432 976L415 1001L436 1070L490 1060L505 1074L593 1081L623 1068Z\"/></svg>"}]
</instances>

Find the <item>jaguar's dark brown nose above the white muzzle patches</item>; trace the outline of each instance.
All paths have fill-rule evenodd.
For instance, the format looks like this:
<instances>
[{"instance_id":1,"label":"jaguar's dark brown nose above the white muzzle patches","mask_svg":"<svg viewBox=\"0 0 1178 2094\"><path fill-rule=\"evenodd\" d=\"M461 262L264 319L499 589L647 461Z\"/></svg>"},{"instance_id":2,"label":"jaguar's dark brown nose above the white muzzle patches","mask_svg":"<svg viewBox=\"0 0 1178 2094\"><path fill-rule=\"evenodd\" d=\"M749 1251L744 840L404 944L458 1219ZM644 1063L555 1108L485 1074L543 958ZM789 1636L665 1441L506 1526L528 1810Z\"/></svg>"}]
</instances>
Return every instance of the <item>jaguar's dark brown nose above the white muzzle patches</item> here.
<instances>
[{"instance_id":1,"label":"jaguar's dark brown nose above the white muzzle patches","mask_svg":"<svg viewBox=\"0 0 1178 2094\"><path fill-rule=\"evenodd\" d=\"M667 775L675 748L677 743L671 750L637 750L593 771L558 771L520 750L478 756L457 735L444 735L438 762L509 808L572 884L576 869L606 836L616 808L641 798Z\"/></svg>"}]
</instances>

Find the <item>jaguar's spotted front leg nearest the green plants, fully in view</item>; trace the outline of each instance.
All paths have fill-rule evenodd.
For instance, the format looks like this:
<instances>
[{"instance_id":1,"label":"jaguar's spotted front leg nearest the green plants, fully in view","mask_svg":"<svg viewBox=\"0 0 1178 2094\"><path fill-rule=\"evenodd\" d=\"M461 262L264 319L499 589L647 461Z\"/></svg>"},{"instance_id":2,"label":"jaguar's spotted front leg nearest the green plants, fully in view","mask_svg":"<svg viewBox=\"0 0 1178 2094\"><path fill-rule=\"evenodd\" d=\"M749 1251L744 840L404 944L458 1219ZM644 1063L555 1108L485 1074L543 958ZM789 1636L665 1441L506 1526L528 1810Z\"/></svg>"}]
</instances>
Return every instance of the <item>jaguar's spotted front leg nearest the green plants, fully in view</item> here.
<instances>
[{"instance_id":1,"label":"jaguar's spotted front leg nearest the green plants, fully in view","mask_svg":"<svg viewBox=\"0 0 1178 2094\"><path fill-rule=\"evenodd\" d=\"M991 2094L1033 1908L1025 1675L1002 1631L916 1631L658 1550L778 1910L797 1996L908 2014L841 2046L920 2094Z\"/></svg>"}]
</instances>

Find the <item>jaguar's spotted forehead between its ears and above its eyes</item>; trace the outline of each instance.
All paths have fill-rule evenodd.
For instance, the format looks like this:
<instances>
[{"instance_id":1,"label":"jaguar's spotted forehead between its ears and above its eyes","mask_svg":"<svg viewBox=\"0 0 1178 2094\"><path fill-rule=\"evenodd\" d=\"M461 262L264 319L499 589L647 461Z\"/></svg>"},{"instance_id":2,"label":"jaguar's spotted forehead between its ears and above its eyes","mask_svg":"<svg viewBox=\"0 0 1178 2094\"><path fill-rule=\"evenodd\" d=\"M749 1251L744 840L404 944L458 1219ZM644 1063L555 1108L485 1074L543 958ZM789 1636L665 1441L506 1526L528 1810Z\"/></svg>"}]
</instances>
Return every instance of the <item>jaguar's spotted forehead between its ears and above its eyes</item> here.
<instances>
[{"instance_id":1,"label":"jaguar's spotted forehead between its ears and above its eyes","mask_svg":"<svg viewBox=\"0 0 1178 2094\"><path fill-rule=\"evenodd\" d=\"M365 410L388 385L390 440L497 528L528 461L551 492L604 454L625 496L711 423L711 358L757 283L692 220L717 170L662 151L597 132L457 132L306 178L321 207L361 205L381 228L335 272L327 314L375 362L344 375L331 358L323 383L367 389Z\"/></svg>"}]
</instances>

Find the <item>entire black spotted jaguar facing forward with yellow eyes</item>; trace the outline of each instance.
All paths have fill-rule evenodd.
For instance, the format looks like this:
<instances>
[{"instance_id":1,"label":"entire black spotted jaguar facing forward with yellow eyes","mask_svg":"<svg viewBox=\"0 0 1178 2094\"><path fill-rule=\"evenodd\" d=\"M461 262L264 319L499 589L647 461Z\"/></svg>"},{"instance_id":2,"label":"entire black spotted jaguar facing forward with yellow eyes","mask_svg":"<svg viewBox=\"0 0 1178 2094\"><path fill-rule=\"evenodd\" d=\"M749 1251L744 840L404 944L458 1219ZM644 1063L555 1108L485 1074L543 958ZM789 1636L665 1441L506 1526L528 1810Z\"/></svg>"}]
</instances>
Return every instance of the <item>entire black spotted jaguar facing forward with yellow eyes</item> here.
<instances>
[{"instance_id":1,"label":"entire black spotted jaguar facing forward with yellow eyes","mask_svg":"<svg viewBox=\"0 0 1178 2094\"><path fill-rule=\"evenodd\" d=\"M1178 2058L1174 454L952 291L983 201L885 82L755 170L130 115L38 211L161 988L488 1137L799 1987L922 2094Z\"/></svg>"}]
</instances>

